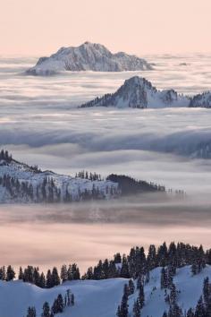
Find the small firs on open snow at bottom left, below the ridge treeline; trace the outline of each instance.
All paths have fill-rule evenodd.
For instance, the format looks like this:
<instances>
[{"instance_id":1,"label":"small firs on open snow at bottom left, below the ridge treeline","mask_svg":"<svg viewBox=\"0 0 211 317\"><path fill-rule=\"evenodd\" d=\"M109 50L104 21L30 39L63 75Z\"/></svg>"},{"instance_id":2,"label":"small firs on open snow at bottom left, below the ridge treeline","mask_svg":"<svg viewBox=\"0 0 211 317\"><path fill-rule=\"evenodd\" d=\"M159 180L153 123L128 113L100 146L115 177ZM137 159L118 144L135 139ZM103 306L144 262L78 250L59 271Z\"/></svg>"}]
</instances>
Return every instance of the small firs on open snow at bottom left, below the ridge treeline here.
<instances>
[{"instance_id":1,"label":"small firs on open snow at bottom left, below the ridge treeline","mask_svg":"<svg viewBox=\"0 0 211 317\"><path fill-rule=\"evenodd\" d=\"M50 308L48 302L43 304L43 310L41 317L54 317L56 313L63 313L66 307L73 306L75 304L74 295L71 293L70 289L67 289L65 296L63 297L59 294ZM29 307L26 317L37 317L36 308Z\"/></svg>"}]
</instances>

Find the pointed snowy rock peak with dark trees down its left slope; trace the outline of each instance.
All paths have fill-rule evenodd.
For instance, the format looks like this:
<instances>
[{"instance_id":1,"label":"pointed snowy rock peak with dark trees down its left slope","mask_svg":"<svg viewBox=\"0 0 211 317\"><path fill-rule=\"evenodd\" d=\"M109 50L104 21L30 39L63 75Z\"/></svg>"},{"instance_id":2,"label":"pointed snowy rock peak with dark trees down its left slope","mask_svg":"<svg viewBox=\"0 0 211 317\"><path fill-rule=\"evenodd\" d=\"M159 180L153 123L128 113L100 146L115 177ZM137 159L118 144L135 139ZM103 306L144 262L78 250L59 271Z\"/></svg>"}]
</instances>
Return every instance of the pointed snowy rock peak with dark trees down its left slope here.
<instances>
[{"instance_id":1,"label":"pointed snowy rock peak with dark trees down its left slope","mask_svg":"<svg viewBox=\"0 0 211 317\"><path fill-rule=\"evenodd\" d=\"M106 94L80 107L188 107L190 99L175 90L157 90L150 81L138 76L124 81L114 94Z\"/></svg>"}]
</instances>

